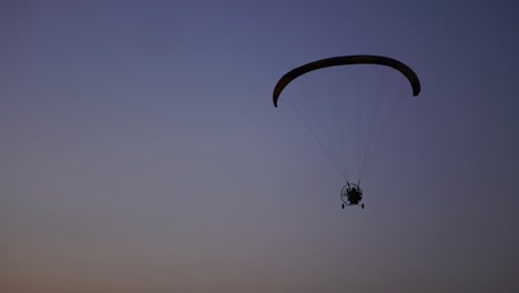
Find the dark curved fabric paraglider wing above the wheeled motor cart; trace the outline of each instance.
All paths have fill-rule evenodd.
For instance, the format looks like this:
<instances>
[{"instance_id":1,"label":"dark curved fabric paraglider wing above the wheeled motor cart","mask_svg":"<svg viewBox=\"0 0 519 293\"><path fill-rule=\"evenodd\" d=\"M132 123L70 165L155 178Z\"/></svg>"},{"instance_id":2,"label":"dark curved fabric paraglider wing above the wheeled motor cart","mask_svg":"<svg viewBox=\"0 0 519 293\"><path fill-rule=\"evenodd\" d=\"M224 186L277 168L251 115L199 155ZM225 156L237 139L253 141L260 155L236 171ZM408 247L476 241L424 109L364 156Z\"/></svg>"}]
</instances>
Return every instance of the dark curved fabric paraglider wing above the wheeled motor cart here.
<instances>
[{"instance_id":1,"label":"dark curved fabric paraglider wing above the wheeled motor cart","mask_svg":"<svg viewBox=\"0 0 519 293\"><path fill-rule=\"evenodd\" d=\"M279 79L279 81L277 81L277 84L274 88L274 107L277 108L277 100L279 99L279 94L286 88L286 85L288 85L288 83L291 83L298 77L317 69L350 64L378 64L390 67L395 70L398 70L401 74L404 74L407 78L413 88L413 95L416 97L420 93L420 81L418 80L418 77L409 67L407 67L398 60L381 55L343 55L320 59L293 69L288 73L283 75Z\"/></svg>"}]
</instances>

